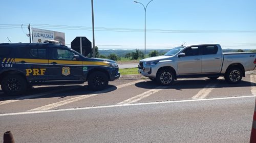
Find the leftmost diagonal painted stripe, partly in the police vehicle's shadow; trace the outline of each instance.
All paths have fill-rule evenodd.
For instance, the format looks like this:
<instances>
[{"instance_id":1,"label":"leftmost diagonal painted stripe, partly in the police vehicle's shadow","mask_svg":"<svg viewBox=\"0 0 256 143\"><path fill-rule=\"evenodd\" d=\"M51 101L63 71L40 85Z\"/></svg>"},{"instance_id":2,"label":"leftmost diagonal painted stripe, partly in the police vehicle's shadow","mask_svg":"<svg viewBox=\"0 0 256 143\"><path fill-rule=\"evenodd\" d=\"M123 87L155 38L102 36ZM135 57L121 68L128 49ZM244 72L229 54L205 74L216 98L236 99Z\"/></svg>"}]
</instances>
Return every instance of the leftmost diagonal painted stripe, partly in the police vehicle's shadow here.
<instances>
[{"instance_id":1,"label":"leftmost diagonal painted stripe, partly in the police vehicle's shadow","mask_svg":"<svg viewBox=\"0 0 256 143\"><path fill-rule=\"evenodd\" d=\"M34 95L29 95L29 96L24 96L24 97L19 97L19 98L15 98L13 100L0 101L0 105L12 103L12 102L17 102L17 101L24 100L24 99L30 99L30 98L45 96L45 95L48 95L48 94L73 90L73 89L77 89L77 88L79 88L79 87L70 87L70 88L65 88L65 89L59 89L59 90L54 90L54 91L49 91L49 92L44 92L44 93L39 93L39 94L34 94Z\"/></svg>"}]
</instances>

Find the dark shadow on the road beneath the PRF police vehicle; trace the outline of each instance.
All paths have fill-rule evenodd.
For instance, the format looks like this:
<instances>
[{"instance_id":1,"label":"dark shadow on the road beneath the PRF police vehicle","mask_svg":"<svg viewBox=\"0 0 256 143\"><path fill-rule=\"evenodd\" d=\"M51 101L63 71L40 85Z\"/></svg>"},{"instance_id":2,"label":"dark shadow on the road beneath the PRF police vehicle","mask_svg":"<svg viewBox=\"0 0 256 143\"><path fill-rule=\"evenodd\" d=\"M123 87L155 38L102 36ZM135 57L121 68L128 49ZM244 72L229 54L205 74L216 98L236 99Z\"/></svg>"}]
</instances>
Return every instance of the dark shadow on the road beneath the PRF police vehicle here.
<instances>
[{"instance_id":1,"label":"dark shadow on the road beneath the PRF police vehicle","mask_svg":"<svg viewBox=\"0 0 256 143\"><path fill-rule=\"evenodd\" d=\"M67 90L65 90L67 89ZM70 89L70 90L69 90ZM80 96L80 95L91 95L91 94L103 94L116 90L114 85L108 85L108 87L102 91L91 91L88 85L65 85L65 86L54 86L54 87L37 87L28 89L26 94L20 96L8 96L3 92L0 93L0 101L5 100L23 100L23 99L39 99L39 98L65 98L68 96Z\"/></svg>"}]
</instances>

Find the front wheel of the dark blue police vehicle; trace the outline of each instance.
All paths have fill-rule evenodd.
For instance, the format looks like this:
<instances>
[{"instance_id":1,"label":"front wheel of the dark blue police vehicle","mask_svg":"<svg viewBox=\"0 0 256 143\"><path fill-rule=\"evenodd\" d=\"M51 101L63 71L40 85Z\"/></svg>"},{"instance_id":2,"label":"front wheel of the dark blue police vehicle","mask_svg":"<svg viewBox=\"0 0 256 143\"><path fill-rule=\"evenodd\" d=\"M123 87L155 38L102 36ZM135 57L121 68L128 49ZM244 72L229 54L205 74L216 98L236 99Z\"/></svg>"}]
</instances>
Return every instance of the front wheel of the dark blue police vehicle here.
<instances>
[{"instance_id":1,"label":"front wheel of the dark blue police vehicle","mask_svg":"<svg viewBox=\"0 0 256 143\"><path fill-rule=\"evenodd\" d=\"M89 75L88 85L93 91L101 91L109 84L108 76L100 71L93 72Z\"/></svg>"}]
</instances>

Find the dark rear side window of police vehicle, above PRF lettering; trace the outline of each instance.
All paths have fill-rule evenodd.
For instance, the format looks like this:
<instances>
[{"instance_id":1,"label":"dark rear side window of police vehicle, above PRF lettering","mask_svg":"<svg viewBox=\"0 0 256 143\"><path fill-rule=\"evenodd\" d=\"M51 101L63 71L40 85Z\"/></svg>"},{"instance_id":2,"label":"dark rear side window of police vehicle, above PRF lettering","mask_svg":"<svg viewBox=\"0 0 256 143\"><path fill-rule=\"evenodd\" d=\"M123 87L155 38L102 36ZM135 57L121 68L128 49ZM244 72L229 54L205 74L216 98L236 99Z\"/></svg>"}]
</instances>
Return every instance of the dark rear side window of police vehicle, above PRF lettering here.
<instances>
[{"instance_id":1,"label":"dark rear side window of police vehicle, above PRF lettering","mask_svg":"<svg viewBox=\"0 0 256 143\"><path fill-rule=\"evenodd\" d=\"M47 59L46 48L19 47L17 58Z\"/></svg>"}]
</instances>

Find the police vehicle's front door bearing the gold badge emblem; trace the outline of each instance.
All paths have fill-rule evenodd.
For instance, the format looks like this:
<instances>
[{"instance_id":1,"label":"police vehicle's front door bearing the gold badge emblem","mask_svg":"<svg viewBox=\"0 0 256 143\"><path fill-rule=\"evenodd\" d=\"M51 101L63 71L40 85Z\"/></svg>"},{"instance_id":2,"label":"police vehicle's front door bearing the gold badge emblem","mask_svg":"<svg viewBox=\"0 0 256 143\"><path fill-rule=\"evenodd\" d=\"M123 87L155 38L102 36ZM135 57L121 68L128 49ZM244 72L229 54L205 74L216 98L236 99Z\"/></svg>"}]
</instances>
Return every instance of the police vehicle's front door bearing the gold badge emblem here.
<instances>
[{"instance_id":1,"label":"police vehicle's front door bearing the gold badge emblem","mask_svg":"<svg viewBox=\"0 0 256 143\"><path fill-rule=\"evenodd\" d=\"M81 80L82 61L74 61L72 52L66 48L51 47L49 80Z\"/></svg>"}]
</instances>

